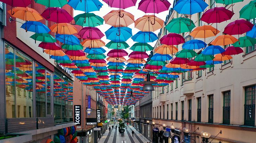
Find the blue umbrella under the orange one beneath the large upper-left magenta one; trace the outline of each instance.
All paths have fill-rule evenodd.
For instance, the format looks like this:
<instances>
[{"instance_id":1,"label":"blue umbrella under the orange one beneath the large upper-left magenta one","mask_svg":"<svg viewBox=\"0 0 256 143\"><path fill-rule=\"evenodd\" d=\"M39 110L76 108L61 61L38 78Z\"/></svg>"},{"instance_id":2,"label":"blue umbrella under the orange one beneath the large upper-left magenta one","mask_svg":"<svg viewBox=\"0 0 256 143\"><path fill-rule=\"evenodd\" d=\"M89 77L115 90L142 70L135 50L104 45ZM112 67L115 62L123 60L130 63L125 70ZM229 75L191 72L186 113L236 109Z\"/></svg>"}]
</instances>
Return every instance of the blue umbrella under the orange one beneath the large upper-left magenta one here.
<instances>
[{"instance_id":1,"label":"blue umbrella under the orange one beneath the large upper-left magenta one","mask_svg":"<svg viewBox=\"0 0 256 143\"><path fill-rule=\"evenodd\" d=\"M80 41L77 37L74 35L68 35L68 34L56 34L55 39L59 40L61 43L67 44L67 45L79 45Z\"/></svg>"}]
</instances>

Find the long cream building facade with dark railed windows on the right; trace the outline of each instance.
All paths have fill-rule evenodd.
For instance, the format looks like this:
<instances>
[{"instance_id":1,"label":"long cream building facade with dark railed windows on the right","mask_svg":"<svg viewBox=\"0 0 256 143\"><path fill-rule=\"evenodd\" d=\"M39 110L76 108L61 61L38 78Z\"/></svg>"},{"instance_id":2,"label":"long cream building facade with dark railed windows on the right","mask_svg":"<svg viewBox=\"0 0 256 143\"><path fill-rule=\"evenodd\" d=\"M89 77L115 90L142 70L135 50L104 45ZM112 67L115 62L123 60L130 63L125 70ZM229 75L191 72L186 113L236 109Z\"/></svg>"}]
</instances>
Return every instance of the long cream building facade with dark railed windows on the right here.
<instances>
[{"instance_id":1,"label":"long cream building facade with dark railed windows on the right","mask_svg":"<svg viewBox=\"0 0 256 143\"><path fill-rule=\"evenodd\" d=\"M216 4L214 0L205 2L209 5L206 10L215 6L231 10L231 5ZM176 1L173 5L175 3ZM237 20L239 11L248 3L249 0L244 0L233 4L235 14L231 20L218 24L218 30L223 31L227 24ZM159 39L168 34L165 26L171 19L187 16L189 18L189 15L181 15L171 9L158 35ZM201 16L202 13L193 14L191 20L196 26L208 25L200 20ZM247 20L253 24L256 22L256 19ZM210 25L216 27L216 24ZM222 32L217 36L221 34ZM186 41L193 39L189 32L182 35ZM244 34L240 35L242 36ZM206 43L211 43L216 37L207 38ZM238 38L238 35L234 37ZM181 45L177 46L179 51L182 49ZM158 46L159 40L154 48ZM190 134L198 128L192 136L200 137L201 131L207 131L211 134L210 141L222 131L212 142L255 142L256 69L252 68L256 67L255 47L245 47L245 57L242 54L234 55L232 64L231 61L224 61L222 69L219 64L214 69L184 73L168 86L155 88L152 97L155 125L160 126L160 130L164 130L163 124L167 128L174 125L178 131L186 127L190 129ZM183 133L181 136L184 139ZM201 142L201 138L196 139L196 142Z\"/></svg>"}]
</instances>

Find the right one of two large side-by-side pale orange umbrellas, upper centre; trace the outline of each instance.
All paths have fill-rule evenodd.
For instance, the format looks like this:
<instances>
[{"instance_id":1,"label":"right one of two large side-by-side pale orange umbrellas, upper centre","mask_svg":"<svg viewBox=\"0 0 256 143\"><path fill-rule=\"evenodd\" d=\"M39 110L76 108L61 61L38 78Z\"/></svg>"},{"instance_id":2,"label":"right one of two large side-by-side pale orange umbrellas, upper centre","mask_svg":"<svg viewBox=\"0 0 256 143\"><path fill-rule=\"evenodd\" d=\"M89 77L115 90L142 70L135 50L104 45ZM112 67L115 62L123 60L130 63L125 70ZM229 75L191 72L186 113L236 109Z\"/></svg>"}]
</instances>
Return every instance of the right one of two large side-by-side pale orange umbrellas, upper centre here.
<instances>
[{"instance_id":1,"label":"right one of two large side-by-side pale orange umbrellas, upper centre","mask_svg":"<svg viewBox=\"0 0 256 143\"><path fill-rule=\"evenodd\" d=\"M163 28L164 20L155 17L155 23L153 22L154 15L144 15L135 20L135 28L139 29L140 31L156 31Z\"/></svg>"}]
</instances>

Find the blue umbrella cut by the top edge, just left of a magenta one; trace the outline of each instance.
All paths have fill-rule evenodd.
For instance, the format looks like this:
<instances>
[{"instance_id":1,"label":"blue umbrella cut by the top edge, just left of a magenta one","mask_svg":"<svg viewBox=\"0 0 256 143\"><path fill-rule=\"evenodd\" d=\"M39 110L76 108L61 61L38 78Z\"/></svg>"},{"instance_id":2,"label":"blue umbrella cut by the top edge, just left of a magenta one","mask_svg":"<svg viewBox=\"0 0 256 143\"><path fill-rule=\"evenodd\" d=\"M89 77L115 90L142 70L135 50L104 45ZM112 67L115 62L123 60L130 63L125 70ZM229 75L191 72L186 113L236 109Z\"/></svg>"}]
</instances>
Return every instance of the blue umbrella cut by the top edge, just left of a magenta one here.
<instances>
[{"instance_id":1,"label":"blue umbrella cut by the top edge, just left of a magenta one","mask_svg":"<svg viewBox=\"0 0 256 143\"><path fill-rule=\"evenodd\" d=\"M68 5L75 10L92 12L99 11L103 4L98 0L69 0Z\"/></svg>"}]
</instances>

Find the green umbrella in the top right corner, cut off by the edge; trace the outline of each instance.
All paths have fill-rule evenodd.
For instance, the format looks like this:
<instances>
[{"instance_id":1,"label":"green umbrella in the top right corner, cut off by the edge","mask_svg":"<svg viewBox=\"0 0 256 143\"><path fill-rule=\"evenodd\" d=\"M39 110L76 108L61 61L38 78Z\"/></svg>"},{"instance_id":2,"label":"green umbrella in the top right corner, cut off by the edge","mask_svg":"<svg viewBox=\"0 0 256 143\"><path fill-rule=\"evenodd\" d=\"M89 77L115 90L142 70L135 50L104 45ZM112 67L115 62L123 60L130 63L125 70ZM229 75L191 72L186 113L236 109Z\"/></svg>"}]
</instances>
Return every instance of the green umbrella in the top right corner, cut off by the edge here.
<instances>
[{"instance_id":1,"label":"green umbrella in the top right corner, cut off by the edge","mask_svg":"<svg viewBox=\"0 0 256 143\"><path fill-rule=\"evenodd\" d=\"M240 18L254 19L256 18L256 0L250 1L240 11Z\"/></svg>"}]
</instances>

